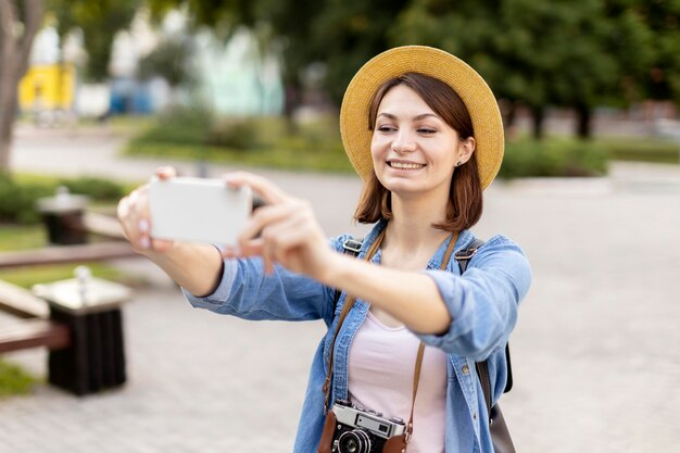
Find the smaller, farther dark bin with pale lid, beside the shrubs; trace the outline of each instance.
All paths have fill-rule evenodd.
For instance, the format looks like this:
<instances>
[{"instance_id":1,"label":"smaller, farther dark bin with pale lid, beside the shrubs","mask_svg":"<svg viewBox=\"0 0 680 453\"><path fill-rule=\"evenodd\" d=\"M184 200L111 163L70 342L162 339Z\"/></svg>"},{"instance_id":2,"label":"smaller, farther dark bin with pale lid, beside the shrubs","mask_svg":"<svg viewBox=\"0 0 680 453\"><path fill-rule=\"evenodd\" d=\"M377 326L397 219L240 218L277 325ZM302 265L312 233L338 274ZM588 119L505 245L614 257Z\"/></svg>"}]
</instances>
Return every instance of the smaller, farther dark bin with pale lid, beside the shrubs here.
<instances>
[{"instance_id":1,"label":"smaller, farther dark bin with pale lid, beside the shrubs","mask_svg":"<svg viewBox=\"0 0 680 453\"><path fill-rule=\"evenodd\" d=\"M38 199L36 207L42 215L50 243L70 246L87 242L83 214L88 203L88 197L71 193L65 186L60 186L54 197Z\"/></svg>"}]
</instances>

